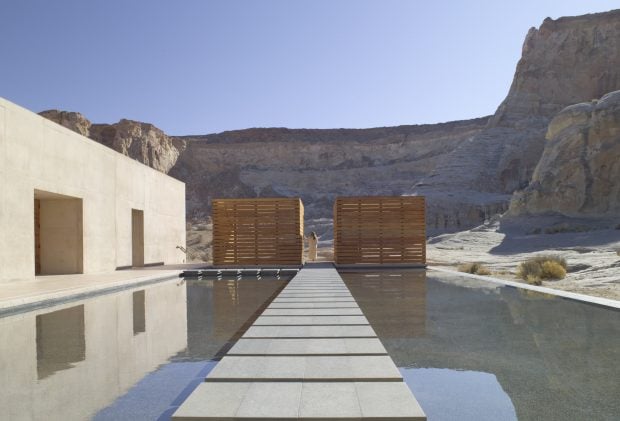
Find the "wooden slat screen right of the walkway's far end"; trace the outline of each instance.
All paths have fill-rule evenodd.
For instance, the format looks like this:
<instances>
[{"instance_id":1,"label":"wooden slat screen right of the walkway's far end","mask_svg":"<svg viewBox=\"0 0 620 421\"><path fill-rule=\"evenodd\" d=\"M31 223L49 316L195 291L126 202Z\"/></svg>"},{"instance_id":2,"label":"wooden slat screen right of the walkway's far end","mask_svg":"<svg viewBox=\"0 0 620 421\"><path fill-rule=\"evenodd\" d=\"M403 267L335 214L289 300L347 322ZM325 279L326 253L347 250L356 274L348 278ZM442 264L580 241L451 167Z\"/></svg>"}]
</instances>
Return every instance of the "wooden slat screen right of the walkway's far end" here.
<instances>
[{"instance_id":1,"label":"wooden slat screen right of the walkway's far end","mask_svg":"<svg viewBox=\"0 0 620 421\"><path fill-rule=\"evenodd\" d=\"M336 264L426 264L421 196L339 197L334 204Z\"/></svg>"}]
</instances>

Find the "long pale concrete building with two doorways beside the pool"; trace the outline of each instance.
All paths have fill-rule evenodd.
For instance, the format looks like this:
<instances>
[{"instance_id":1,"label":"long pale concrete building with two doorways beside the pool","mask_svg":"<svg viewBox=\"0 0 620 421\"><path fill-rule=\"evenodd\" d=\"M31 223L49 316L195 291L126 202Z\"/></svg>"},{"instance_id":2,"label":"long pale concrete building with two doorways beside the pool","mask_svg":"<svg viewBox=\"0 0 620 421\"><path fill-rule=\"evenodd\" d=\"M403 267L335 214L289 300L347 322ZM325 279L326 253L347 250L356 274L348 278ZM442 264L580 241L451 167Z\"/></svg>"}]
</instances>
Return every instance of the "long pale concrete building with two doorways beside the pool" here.
<instances>
[{"instance_id":1,"label":"long pale concrete building with two doorways beside the pool","mask_svg":"<svg viewBox=\"0 0 620 421\"><path fill-rule=\"evenodd\" d=\"M0 98L0 282L183 263L185 184Z\"/></svg>"}]
</instances>

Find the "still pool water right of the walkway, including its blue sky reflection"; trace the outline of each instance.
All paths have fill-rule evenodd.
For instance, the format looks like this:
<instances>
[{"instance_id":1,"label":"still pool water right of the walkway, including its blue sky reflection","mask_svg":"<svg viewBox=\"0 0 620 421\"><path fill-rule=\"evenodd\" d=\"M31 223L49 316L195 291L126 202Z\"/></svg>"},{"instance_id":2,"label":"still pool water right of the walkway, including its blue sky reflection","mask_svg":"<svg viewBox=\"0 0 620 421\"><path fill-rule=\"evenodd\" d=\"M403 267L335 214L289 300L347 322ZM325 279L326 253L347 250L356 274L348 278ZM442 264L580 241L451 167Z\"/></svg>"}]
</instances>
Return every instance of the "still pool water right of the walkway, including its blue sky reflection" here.
<instances>
[{"instance_id":1,"label":"still pool water right of the walkway, including its blue sky reflection","mask_svg":"<svg viewBox=\"0 0 620 421\"><path fill-rule=\"evenodd\" d=\"M341 276L429 420L620 420L619 311L436 272Z\"/></svg>"}]
</instances>

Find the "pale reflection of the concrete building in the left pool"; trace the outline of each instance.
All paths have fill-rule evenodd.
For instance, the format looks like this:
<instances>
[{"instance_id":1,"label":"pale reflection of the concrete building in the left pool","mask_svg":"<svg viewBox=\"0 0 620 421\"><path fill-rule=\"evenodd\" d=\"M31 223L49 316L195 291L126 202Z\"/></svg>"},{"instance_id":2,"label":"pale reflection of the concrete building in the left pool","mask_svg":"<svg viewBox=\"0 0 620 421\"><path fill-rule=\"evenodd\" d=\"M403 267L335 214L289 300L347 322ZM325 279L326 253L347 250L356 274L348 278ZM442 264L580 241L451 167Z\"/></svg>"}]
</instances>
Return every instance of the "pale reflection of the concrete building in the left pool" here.
<instances>
[{"instance_id":1,"label":"pale reflection of the concrete building in the left pool","mask_svg":"<svg viewBox=\"0 0 620 421\"><path fill-rule=\"evenodd\" d=\"M127 291L0 319L2 418L89 419L184 349L177 283L146 288L142 307Z\"/></svg>"}]
</instances>

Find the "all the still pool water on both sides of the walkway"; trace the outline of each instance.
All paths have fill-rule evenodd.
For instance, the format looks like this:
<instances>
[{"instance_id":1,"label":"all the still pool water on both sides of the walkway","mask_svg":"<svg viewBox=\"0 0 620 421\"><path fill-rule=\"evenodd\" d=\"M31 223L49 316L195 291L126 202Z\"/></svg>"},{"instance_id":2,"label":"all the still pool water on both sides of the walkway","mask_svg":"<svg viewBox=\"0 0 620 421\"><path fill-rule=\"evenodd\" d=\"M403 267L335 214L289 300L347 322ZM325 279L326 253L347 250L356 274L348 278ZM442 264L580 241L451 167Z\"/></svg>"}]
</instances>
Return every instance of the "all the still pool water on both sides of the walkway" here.
<instances>
[{"instance_id":1,"label":"all the still pool water on both sides of the walkway","mask_svg":"<svg viewBox=\"0 0 620 421\"><path fill-rule=\"evenodd\" d=\"M620 419L620 312L341 275L430 421ZM175 279L0 318L0 419L167 420L286 282Z\"/></svg>"}]
</instances>

